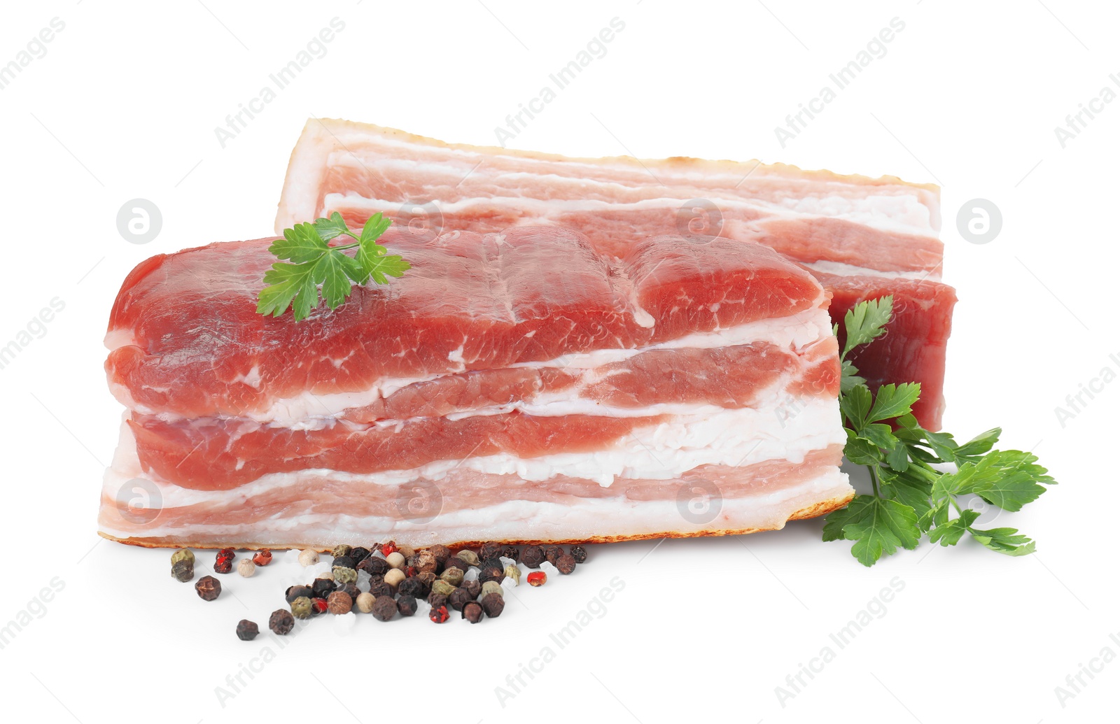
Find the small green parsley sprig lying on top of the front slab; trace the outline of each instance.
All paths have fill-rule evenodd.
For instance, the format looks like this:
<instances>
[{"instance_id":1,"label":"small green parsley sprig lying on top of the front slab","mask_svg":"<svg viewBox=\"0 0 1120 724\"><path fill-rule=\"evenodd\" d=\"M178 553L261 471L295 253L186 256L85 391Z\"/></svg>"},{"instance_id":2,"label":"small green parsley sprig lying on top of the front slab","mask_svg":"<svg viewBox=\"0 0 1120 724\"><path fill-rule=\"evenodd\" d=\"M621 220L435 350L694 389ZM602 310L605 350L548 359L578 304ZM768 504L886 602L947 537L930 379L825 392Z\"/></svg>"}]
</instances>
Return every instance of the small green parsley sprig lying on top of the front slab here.
<instances>
[{"instance_id":1,"label":"small green parsley sprig lying on top of the front slab","mask_svg":"<svg viewBox=\"0 0 1120 724\"><path fill-rule=\"evenodd\" d=\"M286 228L283 238L273 242L269 251L291 263L277 262L264 273L268 285L258 297L256 312L280 317L290 304L296 321L300 321L319 305L320 293L330 309L338 309L354 284L365 284L371 279L388 284L386 276L402 276L411 269L409 263L388 254L376 242L390 224L392 220L374 214L357 235L347 228L342 214L335 211L330 218ZM327 243L344 235L354 243L337 246ZM354 256L344 253L351 248L357 250Z\"/></svg>"}]
</instances>

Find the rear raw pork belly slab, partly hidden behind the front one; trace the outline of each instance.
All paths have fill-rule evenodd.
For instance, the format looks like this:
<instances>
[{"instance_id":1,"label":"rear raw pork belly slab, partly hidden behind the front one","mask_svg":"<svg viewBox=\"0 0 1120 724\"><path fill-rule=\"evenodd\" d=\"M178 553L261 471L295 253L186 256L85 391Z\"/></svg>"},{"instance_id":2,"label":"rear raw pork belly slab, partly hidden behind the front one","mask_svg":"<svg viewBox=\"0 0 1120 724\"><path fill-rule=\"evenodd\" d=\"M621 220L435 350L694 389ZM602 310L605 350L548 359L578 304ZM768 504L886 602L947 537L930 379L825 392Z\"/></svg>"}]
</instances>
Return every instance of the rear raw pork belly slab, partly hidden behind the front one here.
<instances>
[{"instance_id":1,"label":"rear raw pork belly slab, partly hidden behind the front one","mask_svg":"<svg viewBox=\"0 0 1120 724\"><path fill-rule=\"evenodd\" d=\"M432 234L559 224L617 258L663 234L759 242L833 292L834 321L862 299L894 294L892 344L865 350L860 373L872 387L922 383L914 412L941 426L956 298L940 282L934 186L757 161L573 159L312 120L292 152L277 233L333 211L358 227L381 211Z\"/></svg>"}]
</instances>

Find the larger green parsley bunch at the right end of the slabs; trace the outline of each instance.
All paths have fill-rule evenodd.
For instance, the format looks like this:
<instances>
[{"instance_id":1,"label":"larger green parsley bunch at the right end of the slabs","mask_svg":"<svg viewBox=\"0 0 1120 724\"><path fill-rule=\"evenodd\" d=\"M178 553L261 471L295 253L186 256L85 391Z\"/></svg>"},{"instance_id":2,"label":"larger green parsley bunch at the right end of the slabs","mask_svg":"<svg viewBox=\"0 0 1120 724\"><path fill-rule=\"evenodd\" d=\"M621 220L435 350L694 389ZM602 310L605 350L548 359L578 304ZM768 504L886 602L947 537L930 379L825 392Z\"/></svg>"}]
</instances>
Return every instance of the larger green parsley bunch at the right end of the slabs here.
<instances>
[{"instance_id":1,"label":"larger green parsley bunch at the right end of the slabs","mask_svg":"<svg viewBox=\"0 0 1120 724\"><path fill-rule=\"evenodd\" d=\"M965 534L1007 555L1033 553L1035 542L1015 528L974 528L980 513L962 508L960 496L976 495L1004 510L1019 510L1055 481L1038 459L1018 450L993 450L999 427L960 444L946 432L922 427L911 408L917 383L881 385L872 395L847 359L849 352L886 332L894 299L857 304L844 314L840 413L848 442L844 457L871 471L871 495L824 519L824 540L852 540L851 553L866 566L899 547L913 549L924 534L932 543L956 545ZM833 333L839 326L833 327ZM934 466L951 463L955 472ZM954 515L955 514L955 515Z\"/></svg>"}]
</instances>

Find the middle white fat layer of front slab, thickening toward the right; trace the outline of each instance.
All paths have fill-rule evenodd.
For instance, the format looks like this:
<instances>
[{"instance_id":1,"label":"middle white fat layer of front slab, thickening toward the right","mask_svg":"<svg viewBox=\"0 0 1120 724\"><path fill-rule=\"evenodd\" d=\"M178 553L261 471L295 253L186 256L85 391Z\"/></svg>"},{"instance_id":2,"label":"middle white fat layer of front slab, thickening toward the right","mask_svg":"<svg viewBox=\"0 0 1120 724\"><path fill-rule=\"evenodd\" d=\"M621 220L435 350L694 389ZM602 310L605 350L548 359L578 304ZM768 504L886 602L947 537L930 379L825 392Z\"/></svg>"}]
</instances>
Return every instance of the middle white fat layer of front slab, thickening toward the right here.
<instances>
[{"instance_id":1,"label":"middle white fat layer of front slab, thickening toward the right","mask_svg":"<svg viewBox=\"0 0 1120 724\"><path fill-rule=\"evenodd\" d=\"M673 480L700 466L743 467L767 460L800 464L814 450L844 443L836 399L794 398L775 391L757 407L720 410L709 414L680 415L668 422L636 427L594 452L564 452L519 458L502 453L441 460L408 470L352 473L310 469L276 472L232 490L190 490L155 480L143 473L136 442L122 425L121 442L106 471L106 492L131 478L149 478L160 489L165 505L230 502L265 491L326 480L370 486L401 485L416 480L435 481L457 471L512 474L523 480L543 481L558 476L594 480L604 488L619 479ZM110 490L111 489L111 490Z\"/></svg>"}]
</instances>

